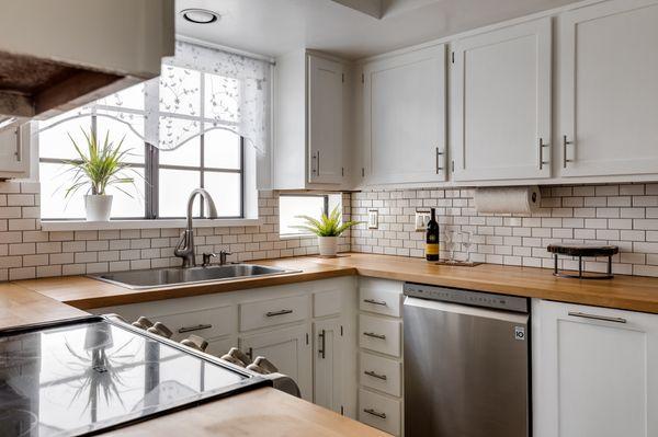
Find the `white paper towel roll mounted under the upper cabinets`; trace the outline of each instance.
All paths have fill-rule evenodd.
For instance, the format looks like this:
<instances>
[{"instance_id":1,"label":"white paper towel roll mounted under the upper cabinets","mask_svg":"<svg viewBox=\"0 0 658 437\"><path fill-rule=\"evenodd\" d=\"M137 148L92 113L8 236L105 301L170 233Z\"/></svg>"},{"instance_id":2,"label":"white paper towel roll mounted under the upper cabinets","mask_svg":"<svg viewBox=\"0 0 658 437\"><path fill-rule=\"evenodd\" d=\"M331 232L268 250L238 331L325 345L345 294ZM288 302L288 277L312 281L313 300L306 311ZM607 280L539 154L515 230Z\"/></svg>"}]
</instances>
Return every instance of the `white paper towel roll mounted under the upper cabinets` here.
<instances>
[{"instance_id":1,"label":"white paper towel roll mounted under the upper cabinets","mask_svg":"<svg viewBox=\"0 0 658 437\"><path fill-rule=\"evenodd\" d=\"M478 212L530 214L540 207L541 199L536 185L483 187L474 195Z\"/></svg>"}]
</instances>

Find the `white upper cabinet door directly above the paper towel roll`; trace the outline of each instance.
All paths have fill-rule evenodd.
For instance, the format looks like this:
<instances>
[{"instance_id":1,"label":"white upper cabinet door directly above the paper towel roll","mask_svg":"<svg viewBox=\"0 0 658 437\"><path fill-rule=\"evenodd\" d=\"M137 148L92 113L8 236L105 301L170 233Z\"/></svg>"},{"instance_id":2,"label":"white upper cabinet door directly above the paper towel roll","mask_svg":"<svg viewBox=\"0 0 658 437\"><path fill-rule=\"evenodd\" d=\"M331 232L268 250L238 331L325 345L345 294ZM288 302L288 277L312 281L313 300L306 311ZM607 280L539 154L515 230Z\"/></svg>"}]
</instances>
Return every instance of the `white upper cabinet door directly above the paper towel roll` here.
<instances>
[{"instance_id":1,"label":"white upper cabinet door directly above the paper towel roll","mask_svg":"<svg viewBox=\"0 0 658 437\"><path fill-rule=\"evenodd\" d=\"M454 44L455 181L551 176L551 19Z\"/></svg>"}]
</instances>

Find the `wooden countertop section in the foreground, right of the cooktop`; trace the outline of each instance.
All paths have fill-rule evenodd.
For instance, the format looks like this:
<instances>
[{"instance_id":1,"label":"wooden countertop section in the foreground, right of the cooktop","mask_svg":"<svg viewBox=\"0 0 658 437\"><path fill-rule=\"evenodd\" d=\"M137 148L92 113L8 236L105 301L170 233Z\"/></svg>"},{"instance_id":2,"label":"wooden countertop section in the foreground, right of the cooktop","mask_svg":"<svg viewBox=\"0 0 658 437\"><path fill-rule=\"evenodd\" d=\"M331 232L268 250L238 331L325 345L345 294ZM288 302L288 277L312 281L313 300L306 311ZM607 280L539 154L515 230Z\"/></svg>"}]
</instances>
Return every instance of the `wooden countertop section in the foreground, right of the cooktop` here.
<instances>
[{"instance_id":1,"label":"wooden countertop section in the foreground, right of the cooktop","mask_svg":"<svg viewBox=\"0 0 658 437\"><path fill-rule=\"evenodd\" d=\"M122 437L389 436L330 410L270 388L237 394L104 435Z\"/></svg>"}]
</instances>

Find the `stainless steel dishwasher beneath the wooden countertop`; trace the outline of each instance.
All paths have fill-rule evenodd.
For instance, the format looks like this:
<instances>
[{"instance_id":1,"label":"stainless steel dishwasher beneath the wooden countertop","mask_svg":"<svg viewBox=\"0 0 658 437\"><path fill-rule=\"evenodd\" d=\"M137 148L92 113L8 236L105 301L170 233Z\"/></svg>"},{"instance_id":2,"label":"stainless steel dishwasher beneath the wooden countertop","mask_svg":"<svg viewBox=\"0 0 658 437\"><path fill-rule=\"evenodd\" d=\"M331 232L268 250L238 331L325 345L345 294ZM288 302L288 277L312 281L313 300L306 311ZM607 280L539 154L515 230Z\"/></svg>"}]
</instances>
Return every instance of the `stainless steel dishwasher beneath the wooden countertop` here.
<instances>
[{"instance_id":1,"label":"stainless steel dishwasher beneath the wooden countertop","mask_svg":"<svg viewBox=\"0 0 658 437\"><path fill-rule=\"evenodd\" d=\"M527 299L409 283L405 296L405 437L527 437Z\"/></svg>"}]
</instances>

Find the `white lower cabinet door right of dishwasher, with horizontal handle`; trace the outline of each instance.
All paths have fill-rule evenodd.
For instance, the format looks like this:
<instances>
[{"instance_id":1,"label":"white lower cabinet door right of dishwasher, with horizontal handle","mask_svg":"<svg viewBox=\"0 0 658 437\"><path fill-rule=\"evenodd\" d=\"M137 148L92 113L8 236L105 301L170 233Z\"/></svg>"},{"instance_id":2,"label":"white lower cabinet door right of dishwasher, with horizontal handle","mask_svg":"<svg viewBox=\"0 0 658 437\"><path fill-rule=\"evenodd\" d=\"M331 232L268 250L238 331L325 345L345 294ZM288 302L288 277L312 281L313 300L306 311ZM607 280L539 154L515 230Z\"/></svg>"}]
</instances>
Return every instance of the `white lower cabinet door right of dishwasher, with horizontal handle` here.
<instances>
[{"instance_id":1,"label":"white lower cabinet door right of dishwasher, with horizontal handle","mask_svg":"<svg viewBox=\"0 0 658 437\"><path fill-rule=\"evenodd\" d=\"M658 435L658 315L533 301L537 437Z\"/></svg>"}]
</instances>

